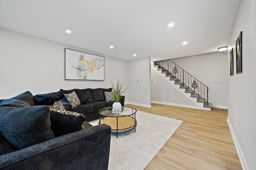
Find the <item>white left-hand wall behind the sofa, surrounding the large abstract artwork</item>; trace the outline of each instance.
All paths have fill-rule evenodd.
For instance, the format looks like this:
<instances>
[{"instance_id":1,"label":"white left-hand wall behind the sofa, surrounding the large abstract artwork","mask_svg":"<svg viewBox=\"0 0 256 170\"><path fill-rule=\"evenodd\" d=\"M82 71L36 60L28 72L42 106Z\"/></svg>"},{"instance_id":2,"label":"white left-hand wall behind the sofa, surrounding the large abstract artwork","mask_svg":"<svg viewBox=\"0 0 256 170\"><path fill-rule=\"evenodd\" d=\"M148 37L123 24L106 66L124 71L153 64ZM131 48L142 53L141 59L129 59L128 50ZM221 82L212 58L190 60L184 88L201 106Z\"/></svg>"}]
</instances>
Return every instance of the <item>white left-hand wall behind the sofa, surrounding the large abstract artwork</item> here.
<instances>
[{"instance_id":1,"label":"white left-hand wall behind the sofa, surrounding the large abstract artwork","mask_svg":"<svg viewBox=\"0 0 256 170\"><path fill-rule=\"evenodd\" d=\"M127 61L3 28L0 37L0 99L25 91L36 95L60 88L109 88L110 80L117 78L129 83ZM105 80L64 80L65 48L105 57ZM125 102L129 101L128 90L124 95Z\"/></svg>"}]
</instances>

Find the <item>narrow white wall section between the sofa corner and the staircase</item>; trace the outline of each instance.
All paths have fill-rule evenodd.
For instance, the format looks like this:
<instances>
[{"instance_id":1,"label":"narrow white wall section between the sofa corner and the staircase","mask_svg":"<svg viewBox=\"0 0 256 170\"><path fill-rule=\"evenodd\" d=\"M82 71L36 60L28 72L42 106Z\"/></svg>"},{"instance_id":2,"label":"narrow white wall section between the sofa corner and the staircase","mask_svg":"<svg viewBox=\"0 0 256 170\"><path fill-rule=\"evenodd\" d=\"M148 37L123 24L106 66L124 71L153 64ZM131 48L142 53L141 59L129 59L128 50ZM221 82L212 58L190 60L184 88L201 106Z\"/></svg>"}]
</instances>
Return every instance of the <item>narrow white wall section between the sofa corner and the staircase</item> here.
<instances>
[{"instance_id":1,"label":"narrow white wall section between the sofa corner and the staircase","mask_svg":"<svg viewBox=\"0 0 256 170\"><path fill-rule=\"evenodd\" d=\"M150 57L129 61L128 68L130 104L151 107Z\"/></svg>"}]
</instances>

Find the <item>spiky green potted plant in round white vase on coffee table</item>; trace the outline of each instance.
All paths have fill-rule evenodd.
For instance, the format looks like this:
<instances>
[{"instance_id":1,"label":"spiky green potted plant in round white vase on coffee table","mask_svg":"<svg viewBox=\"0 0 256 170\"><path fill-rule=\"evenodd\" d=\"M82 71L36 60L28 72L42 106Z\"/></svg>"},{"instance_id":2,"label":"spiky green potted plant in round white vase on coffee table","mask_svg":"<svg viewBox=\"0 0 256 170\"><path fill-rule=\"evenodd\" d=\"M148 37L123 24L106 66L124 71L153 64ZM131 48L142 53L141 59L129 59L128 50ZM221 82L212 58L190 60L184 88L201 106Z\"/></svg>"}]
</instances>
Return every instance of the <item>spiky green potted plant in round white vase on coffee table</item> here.
<instances>
[{"instance_id":1,"label":"spiky green potted plant in round white vase on coffee table","mask_svg":"<svg viewBox=\"0 0 256 170\"><path fill-rule=\"evenodd\" d=\"M124 81L121 81L117 79L116 85L114 84L113 80L110 81L111 87L112 87L112 93L114 98L114 104L112 105L113 109L121 109L122 105L119 102L122 98L122 93L129 87L124 88Z\"/></svg>"}]
</instances>

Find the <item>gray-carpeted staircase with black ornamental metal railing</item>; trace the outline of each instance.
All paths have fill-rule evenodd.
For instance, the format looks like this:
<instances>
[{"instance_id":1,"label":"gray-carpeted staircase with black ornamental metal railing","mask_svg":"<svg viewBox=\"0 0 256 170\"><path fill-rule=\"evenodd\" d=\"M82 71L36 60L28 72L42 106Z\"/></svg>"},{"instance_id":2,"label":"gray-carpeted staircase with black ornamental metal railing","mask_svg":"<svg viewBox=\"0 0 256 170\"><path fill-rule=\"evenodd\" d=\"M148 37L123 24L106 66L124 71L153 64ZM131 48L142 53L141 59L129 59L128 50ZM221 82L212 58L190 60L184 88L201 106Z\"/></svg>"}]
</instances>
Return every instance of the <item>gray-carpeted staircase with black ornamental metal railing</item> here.
<instances>
[{"instance_id":1,"label":"gray-carpeted staircase with black ornamental metal railing","mask_svg":"<svg viewBox=\"0 0 256 170\"><path fill-rule=\"evenodd\" d=\"M209 88L177 64L170 60L155 61L152 69L167 81L170 80L169 83L198 106L198 109L212 109L212 103L208 102Z\"/></svg>"}]
</instances>

